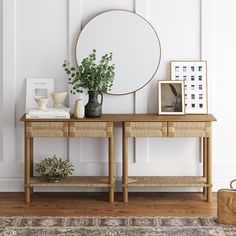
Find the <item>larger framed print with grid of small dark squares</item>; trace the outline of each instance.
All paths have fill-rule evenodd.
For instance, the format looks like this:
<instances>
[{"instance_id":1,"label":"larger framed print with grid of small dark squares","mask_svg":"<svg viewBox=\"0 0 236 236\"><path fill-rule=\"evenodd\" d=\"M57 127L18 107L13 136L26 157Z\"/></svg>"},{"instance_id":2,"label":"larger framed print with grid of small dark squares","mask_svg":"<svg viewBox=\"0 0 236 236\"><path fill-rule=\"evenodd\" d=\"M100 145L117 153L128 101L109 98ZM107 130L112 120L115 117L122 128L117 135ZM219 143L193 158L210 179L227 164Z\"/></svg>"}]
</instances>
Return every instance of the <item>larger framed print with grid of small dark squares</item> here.
<instances>
[{"instance_id":1,"label":"larger framed print with grid of small dark squares","mask_svg":"<svg viewBox=\"0 0 236 236\"><path fill-rule=\"evenodd\" d=\"M207 114L207 62L171 61L171 79L182 80L185 86L187 114Z\"/></svg>"}]
</instances>

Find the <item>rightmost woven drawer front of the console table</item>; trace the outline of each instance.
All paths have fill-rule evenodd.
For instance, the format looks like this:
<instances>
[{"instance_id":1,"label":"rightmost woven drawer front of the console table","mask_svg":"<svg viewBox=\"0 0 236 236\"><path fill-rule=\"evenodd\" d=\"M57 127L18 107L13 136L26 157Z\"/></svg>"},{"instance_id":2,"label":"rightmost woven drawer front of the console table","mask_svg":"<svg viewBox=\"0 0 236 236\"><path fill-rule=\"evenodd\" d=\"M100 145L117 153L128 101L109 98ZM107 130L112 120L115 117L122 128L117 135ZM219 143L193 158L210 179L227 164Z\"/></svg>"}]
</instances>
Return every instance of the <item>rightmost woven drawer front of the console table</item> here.
<instances>
[{"instance_id":1,"label":"rightmost woven drawer front of the console table","mask_svg":"<svg viewBox=\"0 0 236 236\"><path fill-rule=\"evenodd\" d=\"M210 137L211 122L168 122L169 137Z\"/></svg>"}]
</instances>

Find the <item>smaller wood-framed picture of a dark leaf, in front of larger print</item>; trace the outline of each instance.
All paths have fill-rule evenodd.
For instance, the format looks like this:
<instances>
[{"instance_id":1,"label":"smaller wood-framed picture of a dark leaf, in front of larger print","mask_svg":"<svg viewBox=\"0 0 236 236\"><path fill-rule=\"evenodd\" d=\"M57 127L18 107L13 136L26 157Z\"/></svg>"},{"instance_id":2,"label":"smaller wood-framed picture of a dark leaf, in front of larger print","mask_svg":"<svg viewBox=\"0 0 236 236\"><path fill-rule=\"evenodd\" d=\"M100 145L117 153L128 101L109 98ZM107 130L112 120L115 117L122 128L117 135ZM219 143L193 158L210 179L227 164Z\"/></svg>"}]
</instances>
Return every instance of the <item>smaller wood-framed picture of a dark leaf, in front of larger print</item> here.
<instances>
[{"instance_id":1,"label":"smaller wood-framed picture of a dark leaf, in front of larger print","mask_svg":"<svg viewBox=\"0 0 236 236\"><path fill-rule=\"evenodd\" d=\"M184 81L158 81L158 114L185 114Z\"/></svg>"}]
</instances>

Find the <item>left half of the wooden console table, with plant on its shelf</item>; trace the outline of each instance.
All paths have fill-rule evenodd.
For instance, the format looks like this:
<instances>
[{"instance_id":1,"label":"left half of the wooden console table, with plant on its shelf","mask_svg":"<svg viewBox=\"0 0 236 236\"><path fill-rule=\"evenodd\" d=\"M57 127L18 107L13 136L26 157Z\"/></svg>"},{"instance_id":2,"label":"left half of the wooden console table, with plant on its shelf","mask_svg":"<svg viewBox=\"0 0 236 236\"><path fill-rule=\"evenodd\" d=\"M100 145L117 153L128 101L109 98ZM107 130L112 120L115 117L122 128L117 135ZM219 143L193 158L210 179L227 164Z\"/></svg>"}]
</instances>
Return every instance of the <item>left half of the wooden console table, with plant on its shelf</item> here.
<instances>
[{"instance_id":1,"label":"left half of the wooden console table, with plant on its shelf","mask_svg":"<svg viewBox=\"0 0 236 236\"><path fill-rule=\"evenodd\" d=\"M114 202L113 122L106 119L26 119L25 125L25 202L30 203L34 187L107 187ZM108 176L71 176L49 183L33 175L33 140L38 137L107 137Z\"/></svg>"}]
</instances>

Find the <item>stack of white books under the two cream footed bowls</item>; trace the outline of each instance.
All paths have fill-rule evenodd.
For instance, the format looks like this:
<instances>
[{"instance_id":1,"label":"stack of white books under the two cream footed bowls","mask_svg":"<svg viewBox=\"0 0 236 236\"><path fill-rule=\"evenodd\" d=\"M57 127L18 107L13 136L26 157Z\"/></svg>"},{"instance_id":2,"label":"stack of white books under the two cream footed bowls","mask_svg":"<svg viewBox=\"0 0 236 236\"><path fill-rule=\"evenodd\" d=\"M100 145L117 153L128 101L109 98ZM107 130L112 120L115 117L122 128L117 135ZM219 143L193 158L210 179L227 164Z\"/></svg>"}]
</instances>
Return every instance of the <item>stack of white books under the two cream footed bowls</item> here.
<instances>
[{"instance_id":1,"label":"stack of white books under the two cream footed bowls","mask_svg":"<svg viewBox=\"0 0 236 236\"><path fill-rule=\"evenodd\" d=\"M27 119L70 119L69 108L47 108L46 110L30 109Z\"/></svg>"}]
</instances>

